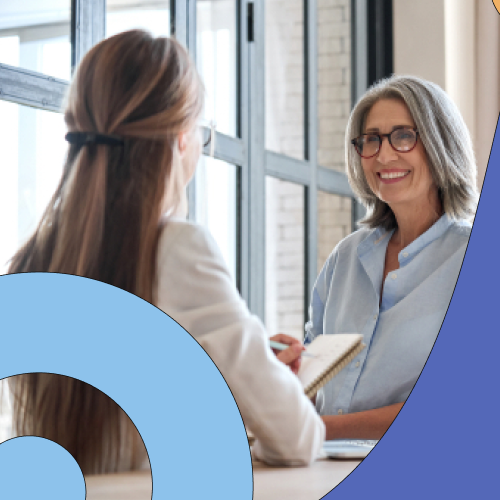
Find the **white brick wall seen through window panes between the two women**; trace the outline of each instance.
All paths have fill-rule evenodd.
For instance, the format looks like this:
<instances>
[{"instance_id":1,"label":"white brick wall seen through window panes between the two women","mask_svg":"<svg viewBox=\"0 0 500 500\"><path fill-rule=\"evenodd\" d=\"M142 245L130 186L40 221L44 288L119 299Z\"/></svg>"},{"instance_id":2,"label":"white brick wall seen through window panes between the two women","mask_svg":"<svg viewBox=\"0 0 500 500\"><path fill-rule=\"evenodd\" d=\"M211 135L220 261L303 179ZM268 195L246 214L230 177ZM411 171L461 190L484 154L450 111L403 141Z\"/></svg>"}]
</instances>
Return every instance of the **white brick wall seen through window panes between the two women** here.
<instances>
[{"instance_id":1,"label":"white brick wall seen through window panes between the two women","mask_svg":"<svg viewBox=\"0 0 500 500\"><path fill-rule=\"evenodd\" d=\"M304 157L303 1L266 0L266 148ZM318 0L318 161L344 170L350 112L350 0ZM304 331L304 190L266 183L266 325ZM318 193L318 269L351 231L351 202Z\"/></svg>"}]
</instances>

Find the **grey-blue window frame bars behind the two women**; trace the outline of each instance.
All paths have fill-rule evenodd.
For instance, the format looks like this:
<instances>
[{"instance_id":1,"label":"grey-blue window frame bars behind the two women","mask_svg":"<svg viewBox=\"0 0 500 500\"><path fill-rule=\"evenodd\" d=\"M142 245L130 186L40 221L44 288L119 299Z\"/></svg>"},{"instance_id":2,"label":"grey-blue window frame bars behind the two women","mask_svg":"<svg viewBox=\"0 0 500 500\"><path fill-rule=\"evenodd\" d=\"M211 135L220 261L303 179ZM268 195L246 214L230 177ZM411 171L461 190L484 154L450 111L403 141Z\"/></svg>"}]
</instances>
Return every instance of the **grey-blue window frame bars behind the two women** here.
<instances>
[{"instance_id":1,"label":"grey-blue window frame bars behind the two women","mask_svg":"<svg viewBox=\"0 0 500 500\"><path fill-rule=\"evenodd\" d=\"M167 1L167 0L165 0ZM250 310L265 317L265 179L272 176L304 187L304 313L317 275L318 190L353 198L352 227L363 215L347 176L318 164L317 0L304 0L304 133L305 157L297 160L265 148L265 5L259 0L237 4L237 137L216 132L214 157L236 165L237 277ZM376 0L377 29L368 23L368 0L351 0L352 104L374 77L392 73L392 0ZM196 58L196 0L170 0L170 32ZM381 24L380 24L381 23ZM71 54L74 69L83 55L105 36L106 0L71 1ZM381 27L380 27L381 26ZM253 40L249 40L249 30ZM372 47L369 51L369 47ZM376 47L375 50L373 47ZM370 65L368 61L370 59ZM379 63L379 61L381 61ZM377 68L376 72L370 68ZM369 74L371 71L372 74ZM0 64L0 100L61 112L69 82L23 68ZM203 154L209 151L204 150ZM188 189L195 213L195 186ZM304 321L306 317L304 317Z\"/></svg>"}]
</instances>

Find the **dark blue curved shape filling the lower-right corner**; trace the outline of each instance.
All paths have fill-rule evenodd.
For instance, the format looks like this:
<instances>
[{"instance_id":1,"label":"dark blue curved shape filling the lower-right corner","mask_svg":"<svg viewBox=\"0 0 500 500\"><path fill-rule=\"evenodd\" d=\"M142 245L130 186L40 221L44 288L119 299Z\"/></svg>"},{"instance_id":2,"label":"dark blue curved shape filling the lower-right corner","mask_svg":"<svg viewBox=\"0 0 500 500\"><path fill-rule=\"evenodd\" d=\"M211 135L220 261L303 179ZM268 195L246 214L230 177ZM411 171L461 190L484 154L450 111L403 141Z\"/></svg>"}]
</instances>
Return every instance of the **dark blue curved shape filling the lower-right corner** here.
<instances>
[{"instance_id":1,"label":"dark blue curved shape filling the lower-right corner","mask_svg":"<svg viewBox=\"0 0 500 500\"><path fill-rule=\"evenodd\" d=\"M432 354L373 452L324 498L498 495L500 128L462 271Z\"/></svg>"}]
</instances>

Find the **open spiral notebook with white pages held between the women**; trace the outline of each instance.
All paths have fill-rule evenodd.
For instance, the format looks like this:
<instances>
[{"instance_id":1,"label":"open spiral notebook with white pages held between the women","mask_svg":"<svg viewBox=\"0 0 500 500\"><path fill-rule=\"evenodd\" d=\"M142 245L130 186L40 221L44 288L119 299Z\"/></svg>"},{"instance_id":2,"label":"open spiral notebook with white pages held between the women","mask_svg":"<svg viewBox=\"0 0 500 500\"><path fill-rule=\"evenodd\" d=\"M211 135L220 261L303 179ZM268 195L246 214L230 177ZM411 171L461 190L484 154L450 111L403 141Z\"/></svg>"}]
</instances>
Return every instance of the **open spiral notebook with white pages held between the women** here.
<instances>
[{"instance_id":1,"label":"open spiral notebook with white pages held between the women","mask_svg":"<svg viewBox=\"0 0 500 500\"><path fill-rule=\"evenodd\" d=\"M345 368L366 346L363 335L338 333L318 335L307 347L314 358L302 357L297 376L308 398Z\"/></svg>"}]
</instances>

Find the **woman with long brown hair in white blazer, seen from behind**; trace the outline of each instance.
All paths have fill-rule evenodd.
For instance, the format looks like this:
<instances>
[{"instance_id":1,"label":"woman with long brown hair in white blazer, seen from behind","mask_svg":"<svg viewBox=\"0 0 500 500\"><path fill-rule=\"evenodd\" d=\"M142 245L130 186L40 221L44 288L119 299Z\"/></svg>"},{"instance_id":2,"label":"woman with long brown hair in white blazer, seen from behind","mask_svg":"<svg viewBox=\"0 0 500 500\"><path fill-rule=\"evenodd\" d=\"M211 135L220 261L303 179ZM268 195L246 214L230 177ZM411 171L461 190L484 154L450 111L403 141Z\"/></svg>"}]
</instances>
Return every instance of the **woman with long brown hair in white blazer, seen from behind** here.
<instances>
[{"instance_id":1,"label":"woman with long brown hair in white blazer, seen from behind","mask_svg":"<svg viewBox=\"0 0 500 500\"><path fill-rule=\"evenodd\" d=\"M308 464L321 448L324 424L269 349L209 233L175 217L201 153L203 92L193 62L172 39L130 31L92 48L69 91L62 179L9 272L86 276L157 305L219 367L257 439L256 456ZM296 368L301 349L292 345L283 360ZM26 383L35 391L36 380ZM71 432L64 408L58 418ZM40 433L50 425L42 422ZM127 433L113 439L118 447Z\"/></svg>"}]
</instances>

